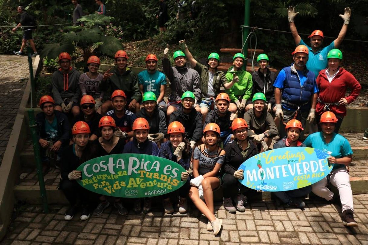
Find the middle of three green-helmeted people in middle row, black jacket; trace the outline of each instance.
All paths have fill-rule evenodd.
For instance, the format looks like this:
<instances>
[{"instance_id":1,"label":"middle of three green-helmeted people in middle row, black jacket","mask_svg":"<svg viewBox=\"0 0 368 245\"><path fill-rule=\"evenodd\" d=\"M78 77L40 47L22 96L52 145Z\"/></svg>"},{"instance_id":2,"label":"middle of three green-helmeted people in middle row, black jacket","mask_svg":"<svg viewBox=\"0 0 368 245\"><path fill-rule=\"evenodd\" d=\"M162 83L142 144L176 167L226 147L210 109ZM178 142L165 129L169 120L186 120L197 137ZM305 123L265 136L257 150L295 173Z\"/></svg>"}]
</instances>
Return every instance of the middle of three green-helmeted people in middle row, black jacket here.
<instances>
[{"instance_id":1,"label":"middle of three green-helmeted people in middle row, black jacket","mask_svg":"<svg viewBox=\"0 0 368 245\"><path fill-rule=\"evenodd\" d=\"M169 125L172 122L180 122L184 125L184 137L190 141L190 146L193 149L199 144L202 139L202 114L193 108L195 101L194 93L185 91L181 96L182 108L174 111L170 115Z\"/></svg>"}]
</instances>

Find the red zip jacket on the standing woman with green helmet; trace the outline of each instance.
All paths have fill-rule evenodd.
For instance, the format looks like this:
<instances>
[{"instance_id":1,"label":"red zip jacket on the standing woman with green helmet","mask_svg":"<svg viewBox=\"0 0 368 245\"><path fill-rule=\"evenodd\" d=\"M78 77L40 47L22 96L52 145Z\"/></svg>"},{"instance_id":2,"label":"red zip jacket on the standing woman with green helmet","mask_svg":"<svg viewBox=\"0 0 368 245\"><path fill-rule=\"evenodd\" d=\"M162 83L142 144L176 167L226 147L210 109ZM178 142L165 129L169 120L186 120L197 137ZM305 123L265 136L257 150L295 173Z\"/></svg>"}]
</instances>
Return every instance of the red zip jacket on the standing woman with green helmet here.
<instances>
[{"instance_id":1,"label":"red zip jacket on the standing woman with green helmet","mask_svg":"<svg viewBox=\"0 0 368 245\"><path fill-rule=\"evenodd\" d=\"M341 98L346 98L347 103L353 102L358 95L362 86L355 79L355 77L343 68L340 68L339 73L333 78L331 83L328 82L326 69L319 72L316 83L319 89L319 98L326 103L339 102ZM345 97L347 88L351 89L351 93ZM317 114L323 113L323 107L325 104L317 102L316 112ZM346 107L345 105L330 105L330 111L335 113L335 115L345 116Z\"/></svg>"}]
</instances>

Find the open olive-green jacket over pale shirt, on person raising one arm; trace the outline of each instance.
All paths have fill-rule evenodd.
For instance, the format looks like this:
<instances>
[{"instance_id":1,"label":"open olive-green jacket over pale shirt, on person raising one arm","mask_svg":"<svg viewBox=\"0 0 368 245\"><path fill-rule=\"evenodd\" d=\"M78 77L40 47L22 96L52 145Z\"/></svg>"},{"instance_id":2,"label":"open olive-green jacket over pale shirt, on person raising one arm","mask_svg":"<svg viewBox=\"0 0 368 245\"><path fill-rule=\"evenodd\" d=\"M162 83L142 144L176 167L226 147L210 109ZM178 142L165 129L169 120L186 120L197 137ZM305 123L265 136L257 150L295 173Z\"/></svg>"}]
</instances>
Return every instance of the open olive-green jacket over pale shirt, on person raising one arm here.
<instances>
[{"instance_id":1,"label":"open olive-green jacket over pale shirt, on person raising one arm","mask_svg":"<svg viewBox=\"0 0 368 245\"><path fill-rule=\"evenodd\" d=\"M194 69L199 73L201 82L199 83L199 87L201 88L202 98L208 98L208 67L202 65L197 61L197 64L195 65ZM222 71L215 72L215 76L213 76L213 90L215 91L215 96L220 93L220 87L221 84L224 86L224 84L227 83L227 79L225 77L225 73Z\"/></svg>"}]
</instances>

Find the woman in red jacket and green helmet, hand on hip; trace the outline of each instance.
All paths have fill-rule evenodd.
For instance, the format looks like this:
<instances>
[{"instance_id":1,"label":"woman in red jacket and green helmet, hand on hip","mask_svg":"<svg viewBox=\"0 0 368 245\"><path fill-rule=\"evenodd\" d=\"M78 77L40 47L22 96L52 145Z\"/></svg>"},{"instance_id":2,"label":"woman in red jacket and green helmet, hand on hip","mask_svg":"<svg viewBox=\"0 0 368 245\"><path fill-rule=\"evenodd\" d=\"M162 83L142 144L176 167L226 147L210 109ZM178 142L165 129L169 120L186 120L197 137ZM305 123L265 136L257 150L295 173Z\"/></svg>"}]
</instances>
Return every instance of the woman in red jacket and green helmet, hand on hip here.
<instances>
[{"instance_id":1,"label":"woman in red jacket and green helmet, hand on hip","mask_svg":"<svg viewBox=\"0 0 368 245\"><path fill-rule=\"evenodd\" d=\"M346 105L353 102L362 86L355 77L340 67L343 54L338 49L332 49L327 54L328 68L319 72L316 83L319 89L318 102L316 105L317 118L319 122L325 111L332 111L338 118L335 133L339 131L343 117L346 115ZM345 97L347 88L351 93ZM321 125L318 125L321 131Z\"/></svg>"}]
</instances>

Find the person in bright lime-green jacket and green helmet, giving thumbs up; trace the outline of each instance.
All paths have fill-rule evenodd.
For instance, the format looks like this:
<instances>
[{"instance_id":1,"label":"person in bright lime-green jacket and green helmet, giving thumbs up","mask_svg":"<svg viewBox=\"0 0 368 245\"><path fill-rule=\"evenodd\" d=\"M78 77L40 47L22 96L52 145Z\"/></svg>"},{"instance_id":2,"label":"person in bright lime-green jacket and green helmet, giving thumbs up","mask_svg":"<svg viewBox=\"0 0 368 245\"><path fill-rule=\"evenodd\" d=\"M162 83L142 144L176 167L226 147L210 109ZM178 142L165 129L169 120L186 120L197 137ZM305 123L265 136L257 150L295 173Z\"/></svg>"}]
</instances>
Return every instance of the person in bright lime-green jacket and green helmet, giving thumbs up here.
<instances>
[{"instance_id":1,"label":"person in bright lime-green jacket and green helmet, giving thumbs up","mask_svg":"<svg viewBox=\"0 0 368 245\"><path fill-rule=\"evenodd\" d=\"M233 66L227 70L225 75L227 82L233 83L230 89L225 89L231 100L229 105L229 111L231 113L235 113L236 111L243 112L244 109L251 108L250 106L247 107L247 101L251 98L252 94L252 75L244 71L244 62L245 57L243 54L235 54L233 57Z\"/></svg>"}]
</instances>

